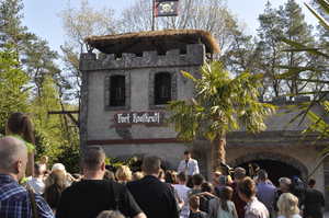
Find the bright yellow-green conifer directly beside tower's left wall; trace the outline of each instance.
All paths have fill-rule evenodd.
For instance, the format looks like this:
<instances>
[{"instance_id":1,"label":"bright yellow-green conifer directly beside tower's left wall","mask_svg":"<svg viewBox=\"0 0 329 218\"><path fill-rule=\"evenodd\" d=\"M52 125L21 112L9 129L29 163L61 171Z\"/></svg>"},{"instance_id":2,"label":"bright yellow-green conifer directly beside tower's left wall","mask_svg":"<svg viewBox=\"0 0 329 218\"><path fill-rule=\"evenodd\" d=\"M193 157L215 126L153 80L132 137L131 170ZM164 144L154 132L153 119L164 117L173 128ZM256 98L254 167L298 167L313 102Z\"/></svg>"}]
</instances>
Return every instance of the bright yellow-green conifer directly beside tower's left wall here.
<instances>
[{"instance_id":1,"label":"bright yellow-green conifer directly beside tower's left wall","mask_svg":"<svg viewBox=\"0 0 329 218\"><path fill-rule=\"evenodd\" d=\"M61 111L63 106L68 108L69 105L61 104L58 87L49 76L44 78L39 91L41 95L33 99L31 106L37 136L37 158L46 154L50 163L61 161L68 170L77 172L79 168L77 127L66 121L65 116L48 114L50 111Z\"/></svg>"}]
</instances>

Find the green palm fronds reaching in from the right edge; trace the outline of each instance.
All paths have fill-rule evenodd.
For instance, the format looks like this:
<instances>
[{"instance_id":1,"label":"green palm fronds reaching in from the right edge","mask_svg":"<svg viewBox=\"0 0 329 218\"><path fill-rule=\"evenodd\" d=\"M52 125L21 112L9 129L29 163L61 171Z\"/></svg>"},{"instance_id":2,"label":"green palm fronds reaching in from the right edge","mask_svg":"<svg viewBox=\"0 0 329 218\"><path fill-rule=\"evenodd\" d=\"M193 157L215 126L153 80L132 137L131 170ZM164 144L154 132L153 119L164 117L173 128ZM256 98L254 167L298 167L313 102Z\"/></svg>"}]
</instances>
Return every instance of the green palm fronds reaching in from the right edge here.
<instances>
[{"instance_id":1,"label":"green palm fronds reaching in from the right edge","mask_svg":"<svg viewBox=\"0 0 329 218\"><path fill-rule=\"evenodd\" d=\"M305 3L305 5L309 9L309 11L318 19L319 24L324 27L322 34L326 36L329 31L329 22L326 20L326 16L329 14L329 2L326 0L315 0L314 1L317 9L321 9L320 12L318 12L316 9L311 8L309 4ZM321 15L322 14L322 15ZM320 32L321 33L321 32ZM327 45L327 37L319 37L320 39L324 39L324 42L319 42L318 45ZM309 125L304 130L304 133L317 133L319 134L319 138L328 138L329 137L329 124L327 122L327 116L329 113L329 102L327 100L327 96L329 94L328 91L328 84L329 81L326 78L322 78L321 74L326 74L328 72L328 60L329 60L329 54L327 47L314 47L313 45L303 44L295 41L290 41L288 38L283 38L283 42L285 42L287 45L292 47L291 50L295 53L307 53L313 56L316 56L318 59L321 60L319 65L316 65L311 68L288 68L288 71L281 76L282 78L286 80L293 80L294 78L298 78L299 74L304 71L313 71L314 74L311 77L305 78L305 79L298 79L302 81L311 82L313 84L316 84L320 87L319 90L310 91L307 94L314 95L313 101L307 104L297 104L295 105L295 108L298 110L298 115L295 118L303 116L303 119L307 116L309 118ZM325 64L322 66L322 64ZM315 78L314 76L317 76ZM311 111L314 106L322 106L325 110L325 113L322 115L316 114ZM302 121L303 121L302 119ZM326 153L324 156L319 163L317 164L316 169L313 171L313 173L317 170L317 168L320 165L320 163L325 160L325 158L328 156L329 148L328 146L322 151ZM311 174L313 174L311 173ZM311 175L310 174L310 175Z\"/></svg>"}]
</instances>

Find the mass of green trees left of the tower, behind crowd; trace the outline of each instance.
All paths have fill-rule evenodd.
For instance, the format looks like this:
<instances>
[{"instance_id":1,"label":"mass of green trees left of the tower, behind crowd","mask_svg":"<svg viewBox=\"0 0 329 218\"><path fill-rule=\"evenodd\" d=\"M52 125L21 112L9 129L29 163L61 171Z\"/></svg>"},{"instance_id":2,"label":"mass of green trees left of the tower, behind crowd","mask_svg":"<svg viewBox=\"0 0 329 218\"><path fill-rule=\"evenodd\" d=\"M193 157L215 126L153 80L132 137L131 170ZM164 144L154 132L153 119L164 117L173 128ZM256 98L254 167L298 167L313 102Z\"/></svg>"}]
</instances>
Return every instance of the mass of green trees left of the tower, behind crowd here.
<instances>
[{"instance_id":1,"label":"mass of green trees left of the tower, behind crowd","mask_svg":"<svg viewBox=\"0 0 329 218\"><path fill-rule=\"evenodd\" d=\"M75 107L64 103L70 78L56 65L58 54L22 24L22 9L21 0L0 2L1 134L11 113L29 113L35 125L36 160L46 154L50 163L63 160L69 170L77 170L77 127L67 117L48 115L50 111Z\"/></svg>"}]
</instances>

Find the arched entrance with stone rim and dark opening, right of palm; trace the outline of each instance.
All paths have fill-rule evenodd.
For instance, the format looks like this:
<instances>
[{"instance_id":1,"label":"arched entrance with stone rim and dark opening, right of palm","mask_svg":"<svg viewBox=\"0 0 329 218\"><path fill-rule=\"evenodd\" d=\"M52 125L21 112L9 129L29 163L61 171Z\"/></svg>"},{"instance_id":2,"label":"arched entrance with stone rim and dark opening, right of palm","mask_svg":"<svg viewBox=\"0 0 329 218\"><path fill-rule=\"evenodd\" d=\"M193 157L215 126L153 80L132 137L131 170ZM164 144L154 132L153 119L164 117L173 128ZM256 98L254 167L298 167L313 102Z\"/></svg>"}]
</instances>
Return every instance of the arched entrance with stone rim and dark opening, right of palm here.
<instances>
[{"instance_id":1,"label":"arched entrance with stone rim and dark opening, right of palm","mask_svg":"<svg viewBox=\"0 0 329 218\"><path fill-rule=\"evenodd\" d=\"M269 177L274 184L282 176L292 177L294 175L300 179L307 179L307 168L297 159L274 152L254 152L247 153L230 162L231 167L242 167L248 171L249 163L257 163L261 169L269 173Z\"/></svg>"}]
</instances>

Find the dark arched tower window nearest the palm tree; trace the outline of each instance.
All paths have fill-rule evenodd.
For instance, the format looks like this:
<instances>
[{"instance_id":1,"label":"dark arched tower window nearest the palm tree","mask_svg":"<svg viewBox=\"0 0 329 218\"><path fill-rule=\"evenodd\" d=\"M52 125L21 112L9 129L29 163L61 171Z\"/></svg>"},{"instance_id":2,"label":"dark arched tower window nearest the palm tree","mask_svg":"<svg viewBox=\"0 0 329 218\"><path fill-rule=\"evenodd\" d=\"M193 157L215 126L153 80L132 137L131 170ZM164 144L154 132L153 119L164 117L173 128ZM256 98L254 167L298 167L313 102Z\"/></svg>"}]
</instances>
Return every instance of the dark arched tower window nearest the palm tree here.
<instances>
[{"instance_id":1,"label":"dark arched tower window nearest the palm tree","mask_svg":"<svg viewBox=\"0 0 329 218\"><path fill-rule=\"evenodd\" d=\"M155 104L167 104L171 101L171 74L159 72L155 76Z\"/></svg>"}]
</instances>

